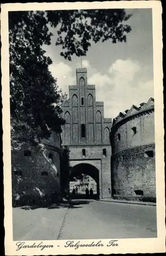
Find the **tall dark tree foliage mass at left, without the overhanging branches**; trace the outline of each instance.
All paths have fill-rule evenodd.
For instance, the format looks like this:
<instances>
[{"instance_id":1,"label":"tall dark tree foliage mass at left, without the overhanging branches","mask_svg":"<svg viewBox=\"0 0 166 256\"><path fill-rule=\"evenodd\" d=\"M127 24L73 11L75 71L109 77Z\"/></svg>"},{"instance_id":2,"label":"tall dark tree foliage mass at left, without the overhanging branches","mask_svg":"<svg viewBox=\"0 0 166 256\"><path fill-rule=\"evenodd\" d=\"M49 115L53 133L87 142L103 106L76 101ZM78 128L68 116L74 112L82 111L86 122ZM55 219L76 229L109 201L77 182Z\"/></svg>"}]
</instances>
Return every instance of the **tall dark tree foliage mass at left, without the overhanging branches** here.
<instances>
[{"instance_id":1,"label":"tall dark tree foliage mass at left, without the overhanging branches","mask_svg":"<svg viewBox=\"0 0 166 256\"><path fill-rule=\"evenodd\" d=\"M12 126L28 125L37 138L61 132L61 92L49 71L52 63L44 55L51 33L44 12L9 13L10 107ZM18 127L19 126L19 127Z\"/></svg>"}]
</instances>

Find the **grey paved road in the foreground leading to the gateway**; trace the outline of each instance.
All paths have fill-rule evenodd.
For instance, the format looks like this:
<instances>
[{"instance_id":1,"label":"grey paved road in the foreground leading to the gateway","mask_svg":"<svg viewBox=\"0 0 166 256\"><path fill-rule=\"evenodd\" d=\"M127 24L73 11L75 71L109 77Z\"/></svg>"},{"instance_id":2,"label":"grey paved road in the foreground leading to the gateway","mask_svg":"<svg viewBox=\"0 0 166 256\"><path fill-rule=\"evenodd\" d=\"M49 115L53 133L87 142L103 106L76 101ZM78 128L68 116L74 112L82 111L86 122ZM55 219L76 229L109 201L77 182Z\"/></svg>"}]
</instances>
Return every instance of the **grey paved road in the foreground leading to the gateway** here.
<instances>
[{"instance_id":1,"label":"grey paved road in the foreground leading to the gateway","mask_svg":"<svg viewBox=\"0 0 166 256\"><path fill-rule=\"evenodd\" d=\"M156 207L73 200L50 208L13 208L13 240L155 238Z\"/></svg>"}]
</instances>

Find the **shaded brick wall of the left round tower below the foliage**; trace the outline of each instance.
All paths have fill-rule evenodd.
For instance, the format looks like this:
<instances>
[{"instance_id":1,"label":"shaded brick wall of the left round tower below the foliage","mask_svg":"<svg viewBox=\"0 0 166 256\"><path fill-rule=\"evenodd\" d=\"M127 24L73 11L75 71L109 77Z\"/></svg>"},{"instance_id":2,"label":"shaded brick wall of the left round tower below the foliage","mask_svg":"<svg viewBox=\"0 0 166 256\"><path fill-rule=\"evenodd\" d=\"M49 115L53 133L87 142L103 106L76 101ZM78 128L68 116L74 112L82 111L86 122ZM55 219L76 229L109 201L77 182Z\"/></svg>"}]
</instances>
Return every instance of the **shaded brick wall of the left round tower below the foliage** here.
<instances>
[{"instance_id":1,"label":"shaded brick wall of the left round tower below the foliage","mask_svg":"<svg viewBox=\"0 0 166 256\"><path fill-rule=\"evenodd\" d=\"M59 138L56 136L56 138ZM55 139L55 138L54 138ZM53 144L53 138L50 144ZM45 141L46 142L46 141ZM15 203L41 202L45 196L54 200L60 199L60 150L59 139L56 146L42 144L32 146L24 142L11 152L12 164L12 199ZM31 156L25 156L25 151L31 151ZM52 154L52 159L49 158ZM20 173L21 172L21 175ZM47 172L48 176L42 176Z\"/></svg>"}]
</instances>

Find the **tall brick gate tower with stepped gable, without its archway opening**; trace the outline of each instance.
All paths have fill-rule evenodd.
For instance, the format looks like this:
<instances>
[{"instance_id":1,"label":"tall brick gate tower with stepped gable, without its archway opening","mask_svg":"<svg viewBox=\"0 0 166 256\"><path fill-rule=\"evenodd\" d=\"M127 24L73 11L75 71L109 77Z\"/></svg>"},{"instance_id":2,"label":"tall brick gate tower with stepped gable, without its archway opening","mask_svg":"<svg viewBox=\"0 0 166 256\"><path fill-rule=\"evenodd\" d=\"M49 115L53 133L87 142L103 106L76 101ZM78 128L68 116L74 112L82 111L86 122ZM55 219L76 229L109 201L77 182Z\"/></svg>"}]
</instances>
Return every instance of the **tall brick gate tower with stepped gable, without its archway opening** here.
<instances>
[{"instance_id":1,"label":"tall brick gate tower with stepped gable, without its archway opening","mask_svg":"<svg viewBox=\"0 0 166 256\"><path fill-rule=\"evenodd\" d=\"M111 118L104 118L104 102L96 101L96 89L87 84L87 69L76 69L77 84L69 86L69 99L62 105L62 145L70 150L75 173L91 176L100 198L111 195Z\"/></svg>"}]
</instances>

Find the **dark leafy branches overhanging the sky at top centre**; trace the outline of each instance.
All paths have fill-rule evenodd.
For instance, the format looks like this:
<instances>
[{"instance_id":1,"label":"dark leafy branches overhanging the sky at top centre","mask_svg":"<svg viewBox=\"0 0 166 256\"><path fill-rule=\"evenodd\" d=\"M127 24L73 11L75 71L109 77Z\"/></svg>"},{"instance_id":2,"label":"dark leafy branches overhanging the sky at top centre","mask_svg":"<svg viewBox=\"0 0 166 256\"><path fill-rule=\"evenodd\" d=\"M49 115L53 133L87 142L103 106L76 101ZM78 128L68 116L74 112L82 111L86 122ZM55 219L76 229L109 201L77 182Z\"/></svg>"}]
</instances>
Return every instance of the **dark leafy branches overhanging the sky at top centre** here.
<instances>
[{"instance_id":1,"label":"dark leafy branches overhanging the sky at top centre","mask_svg":"<svg viewBox=\"0 0 166 256\"><path fill-rule=\"evenodd\" d=\"M85 56L91 41L126 42L126 35L131 31L124 23L131 14L126 15L124 9L48 11L46 14L52 27L60 24L56 46L62 47L60 55L67 60L72 60L74 54Z\"/></svg>"}]
</instances>

